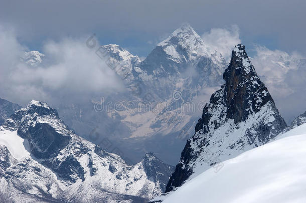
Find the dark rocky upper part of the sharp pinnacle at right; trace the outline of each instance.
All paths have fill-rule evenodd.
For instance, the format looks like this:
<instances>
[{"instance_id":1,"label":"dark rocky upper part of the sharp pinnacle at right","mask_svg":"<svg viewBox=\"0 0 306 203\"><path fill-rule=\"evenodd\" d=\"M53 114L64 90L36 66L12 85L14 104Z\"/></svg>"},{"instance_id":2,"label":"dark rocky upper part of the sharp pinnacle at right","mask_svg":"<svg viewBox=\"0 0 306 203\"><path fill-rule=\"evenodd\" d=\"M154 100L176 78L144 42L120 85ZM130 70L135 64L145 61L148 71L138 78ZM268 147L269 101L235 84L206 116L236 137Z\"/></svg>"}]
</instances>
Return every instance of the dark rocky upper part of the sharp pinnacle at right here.
<instances>
[{"instance_id":1,"label":"dark rocky upper part of the sharp pinnacle at right","mask_svg":"<svg viewBox=\"0 0 306 203\"><path fill-rule=\"evenodd\" d=\"M235 123L246 120L269 101L274 105L243 45L236 45L232 51L231 62L223 74L223 79L227 118L234 119Z\"/></svg>"}]
</instances>

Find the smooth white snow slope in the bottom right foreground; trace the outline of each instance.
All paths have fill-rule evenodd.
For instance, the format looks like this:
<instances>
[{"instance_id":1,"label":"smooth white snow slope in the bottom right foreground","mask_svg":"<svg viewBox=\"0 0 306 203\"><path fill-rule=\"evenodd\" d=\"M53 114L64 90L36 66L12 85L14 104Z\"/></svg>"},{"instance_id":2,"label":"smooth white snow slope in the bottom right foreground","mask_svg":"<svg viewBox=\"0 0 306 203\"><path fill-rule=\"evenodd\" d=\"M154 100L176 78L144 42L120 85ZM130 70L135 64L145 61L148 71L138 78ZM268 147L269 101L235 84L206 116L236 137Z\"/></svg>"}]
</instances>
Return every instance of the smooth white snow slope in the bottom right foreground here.
<instances>
[{"instance_id":1,"label":"smooth white snow slope in the bottom right foreground","mask_svg":"<svg viewBox=\"0 0 306 203\"><path fill-rule=\"evenodd\" d=\"M163 202L306 202L305 145L302 124L276 141L224 161L217 173L206 170Z\"/></svg>"}]
</instances>

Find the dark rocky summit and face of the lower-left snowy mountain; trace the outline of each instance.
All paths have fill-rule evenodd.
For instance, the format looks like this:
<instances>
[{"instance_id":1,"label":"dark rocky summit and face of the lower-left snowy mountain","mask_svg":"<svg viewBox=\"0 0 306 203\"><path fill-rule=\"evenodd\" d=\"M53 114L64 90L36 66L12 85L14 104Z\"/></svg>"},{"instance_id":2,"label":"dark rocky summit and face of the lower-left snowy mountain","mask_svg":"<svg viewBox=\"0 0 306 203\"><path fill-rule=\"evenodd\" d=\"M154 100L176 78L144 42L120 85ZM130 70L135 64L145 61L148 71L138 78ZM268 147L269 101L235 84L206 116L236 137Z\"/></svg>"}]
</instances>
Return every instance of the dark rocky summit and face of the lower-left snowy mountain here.
<instances>
[{"instance_id":1,"label":"dark rocky summit and face of the lower-left snowy mountain","mask_svg":"<svg viewBox=\"0 0 306 203\"><path fill-rule=\"evenodd\" d=\"M84 180L85 172L74 156L58 159L60 151L71 145L72 137L56 109L45 103L32 101L27 108L16 111L5 122L5 126L17 129L19 136L29 141L32 155L57 172L61 178L71 182L78 178Z\"/></svg>"}]
</instances>

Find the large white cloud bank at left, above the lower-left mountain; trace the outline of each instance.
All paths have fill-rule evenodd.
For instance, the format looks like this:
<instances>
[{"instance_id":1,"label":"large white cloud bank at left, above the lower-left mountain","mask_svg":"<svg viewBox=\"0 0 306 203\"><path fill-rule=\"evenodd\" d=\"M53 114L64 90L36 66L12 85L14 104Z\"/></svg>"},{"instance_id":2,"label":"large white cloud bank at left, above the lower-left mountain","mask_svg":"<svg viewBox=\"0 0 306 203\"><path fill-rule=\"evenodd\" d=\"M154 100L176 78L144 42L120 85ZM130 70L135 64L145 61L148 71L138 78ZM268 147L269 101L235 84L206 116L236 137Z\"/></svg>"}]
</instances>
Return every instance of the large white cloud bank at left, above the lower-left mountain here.
<instances>
[{"instance_id":1,"label":"large white cloud bank at left, above the lower-left mountain","mask_svg":"<svg viewBox=\"0 0 306 203\"><path fill-rule=\"evenodd\" d=\"M12 29L0 27L0 96L20 104L31 99L59 103L121 90L122 81L85 42L46 42L44 62L30 67L20 58L27 48Z\"/></svg>"}]
</instances>

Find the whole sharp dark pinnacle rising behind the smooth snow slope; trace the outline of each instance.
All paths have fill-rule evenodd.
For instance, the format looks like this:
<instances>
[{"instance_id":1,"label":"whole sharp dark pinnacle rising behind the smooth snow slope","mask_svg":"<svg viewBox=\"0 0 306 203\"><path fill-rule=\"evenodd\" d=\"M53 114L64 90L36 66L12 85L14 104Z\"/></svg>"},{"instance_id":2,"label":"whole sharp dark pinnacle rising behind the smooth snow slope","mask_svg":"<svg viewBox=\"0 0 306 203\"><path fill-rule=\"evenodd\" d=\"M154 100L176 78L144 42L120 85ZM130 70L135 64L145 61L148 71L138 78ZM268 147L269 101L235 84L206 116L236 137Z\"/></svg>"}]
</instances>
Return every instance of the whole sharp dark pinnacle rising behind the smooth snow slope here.
<instances>
[{"instance_id":1,"label":"whole sharp dark pinnacle rising behind the smooth snow slope","mask_svg":"<svg viewBox=\"0 0 306 203\"><path fill-rule=\"evenodd\" d=\"M286 127L243 45L235 46L223 79L225 84L205 105L166 192L210 167L218 172L222 161L267 143Z\"/></svg>"}]
</instances>

